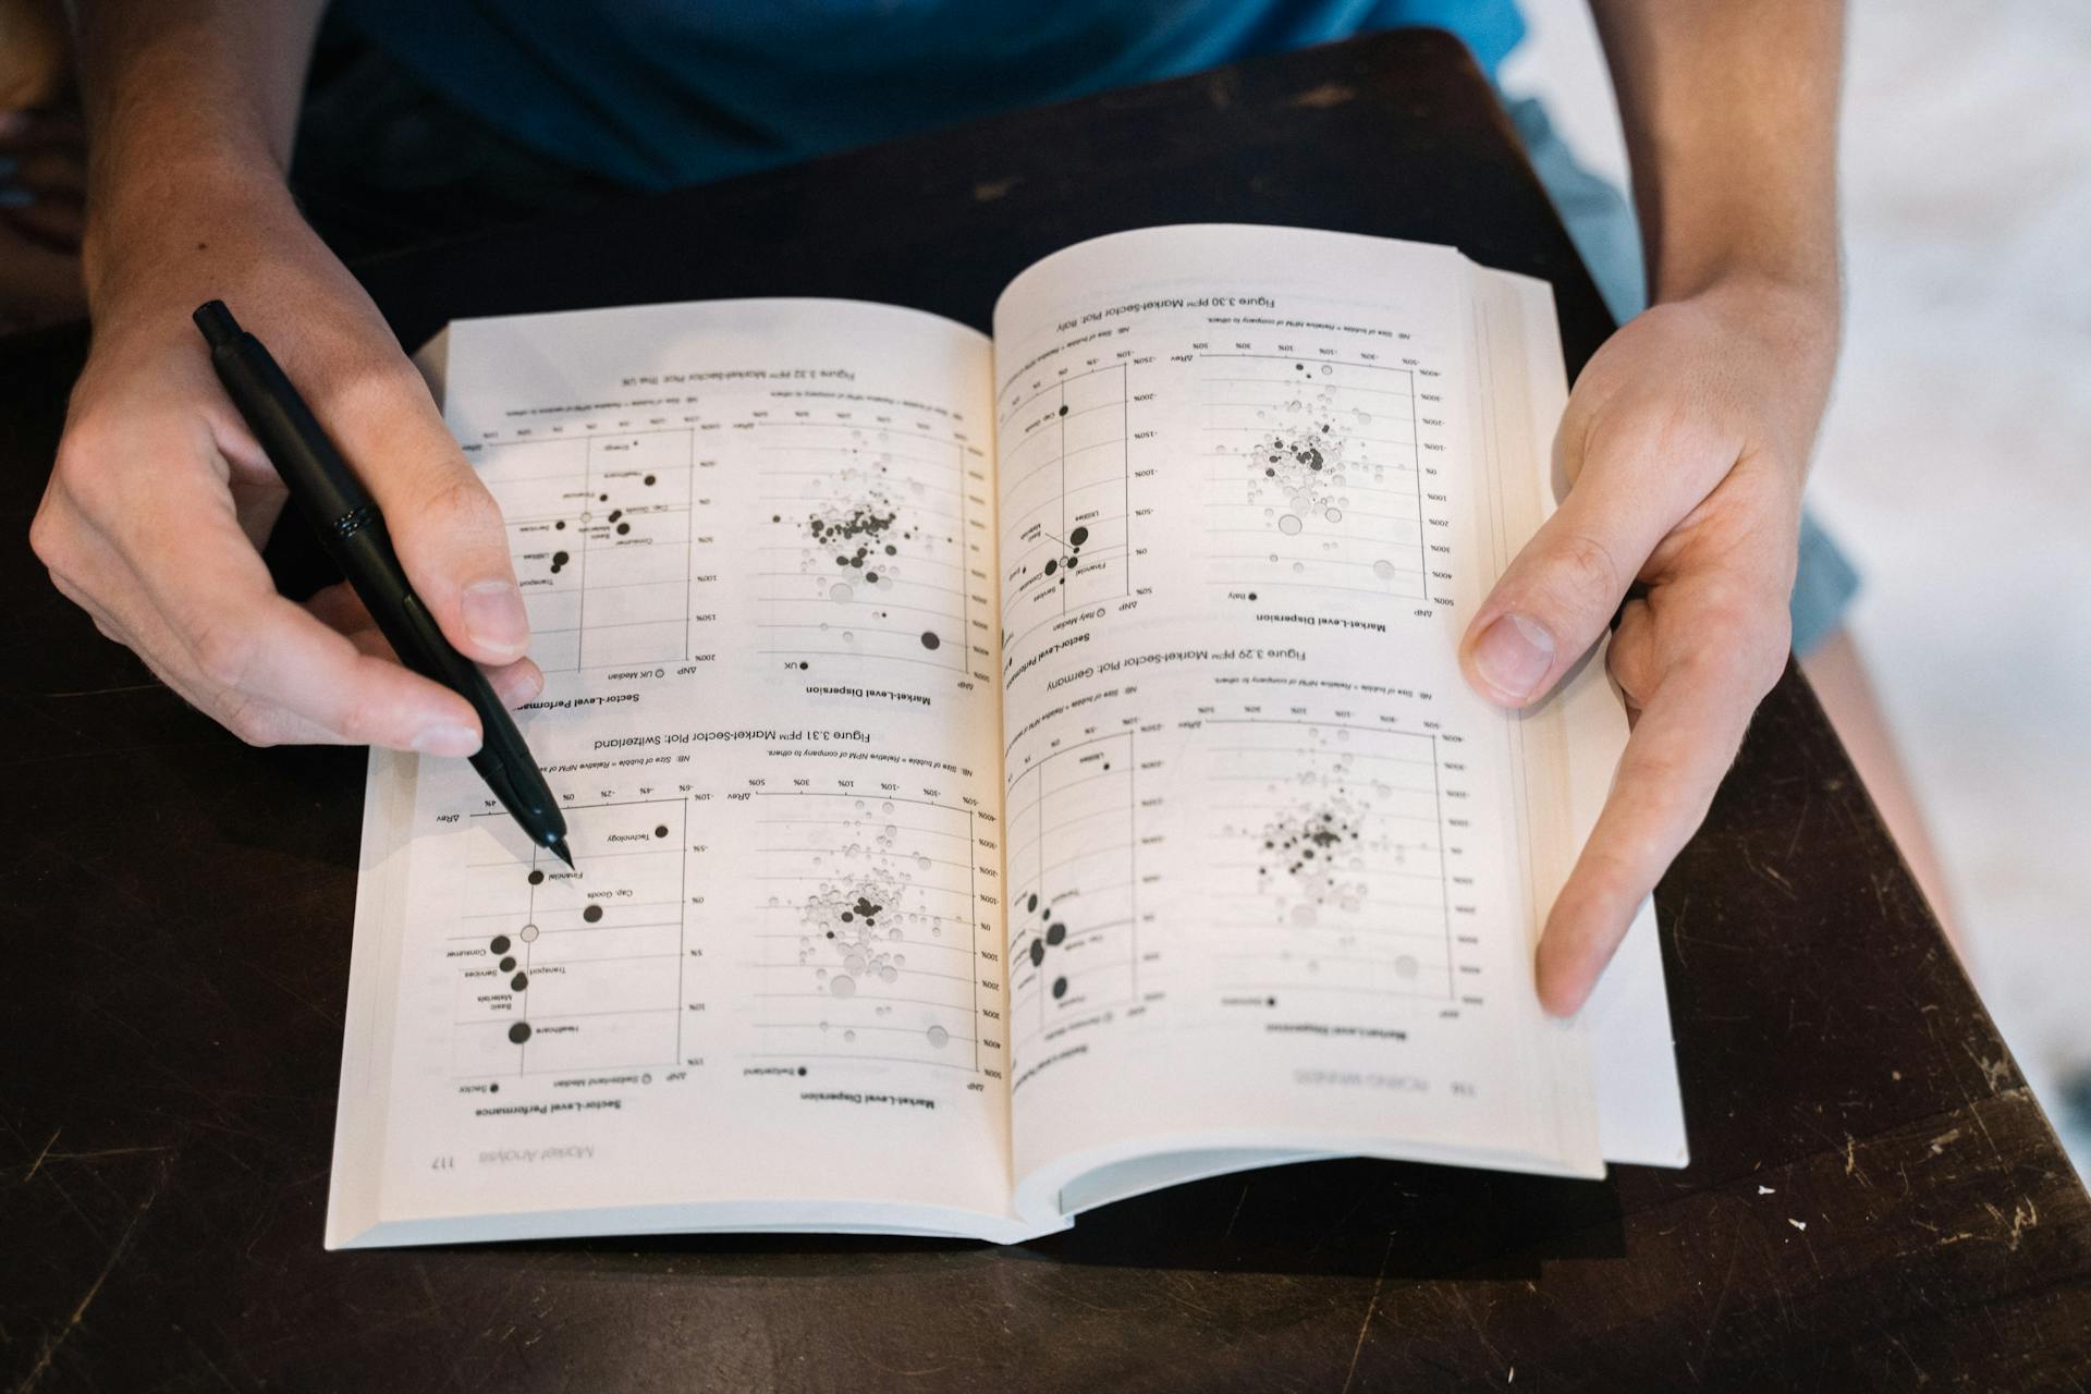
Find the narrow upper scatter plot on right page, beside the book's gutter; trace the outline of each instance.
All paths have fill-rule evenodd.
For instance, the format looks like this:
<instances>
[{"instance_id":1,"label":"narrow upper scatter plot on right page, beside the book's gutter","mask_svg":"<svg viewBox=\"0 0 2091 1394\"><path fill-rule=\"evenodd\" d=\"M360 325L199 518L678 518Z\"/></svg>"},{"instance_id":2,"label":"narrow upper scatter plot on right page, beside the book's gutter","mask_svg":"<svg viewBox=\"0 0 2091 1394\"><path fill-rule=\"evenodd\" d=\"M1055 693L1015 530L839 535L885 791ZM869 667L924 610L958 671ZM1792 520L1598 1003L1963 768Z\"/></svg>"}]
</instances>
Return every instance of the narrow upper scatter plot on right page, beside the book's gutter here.
<instances>
[{"instance_id":1,"label":"narrow upper scatter plot on right page, beside the book's gutter","mask_svg":"<svg viewBox=\"0 0 2091 1394\"><path fill-rule=\"evenodd\" d=\"M1131 594L1127 378L1110 366L1010 389L1002 410L1002 627L1016 637Z\"/></svg>"}]
</instances>

